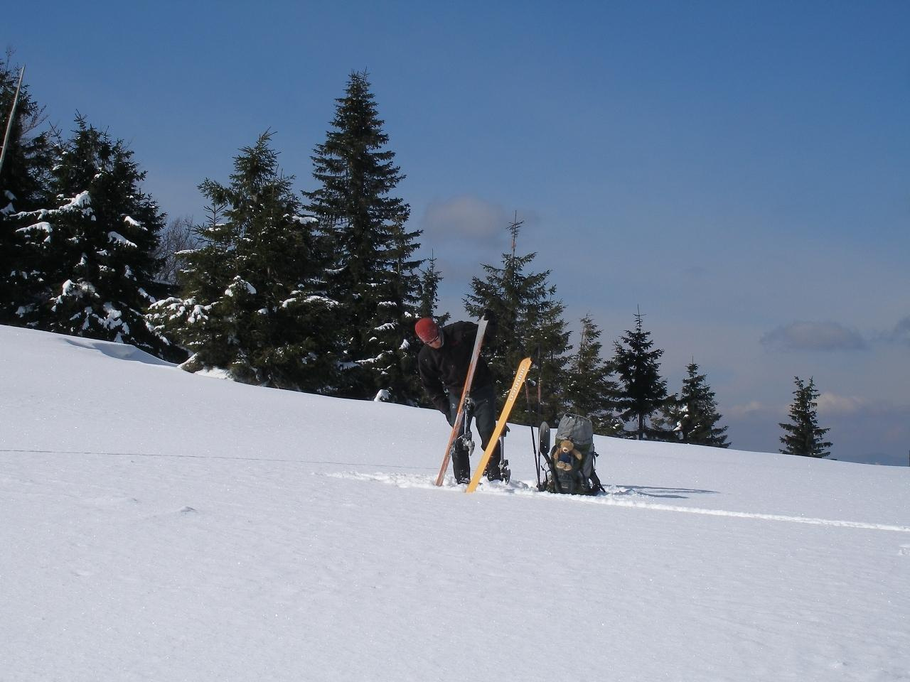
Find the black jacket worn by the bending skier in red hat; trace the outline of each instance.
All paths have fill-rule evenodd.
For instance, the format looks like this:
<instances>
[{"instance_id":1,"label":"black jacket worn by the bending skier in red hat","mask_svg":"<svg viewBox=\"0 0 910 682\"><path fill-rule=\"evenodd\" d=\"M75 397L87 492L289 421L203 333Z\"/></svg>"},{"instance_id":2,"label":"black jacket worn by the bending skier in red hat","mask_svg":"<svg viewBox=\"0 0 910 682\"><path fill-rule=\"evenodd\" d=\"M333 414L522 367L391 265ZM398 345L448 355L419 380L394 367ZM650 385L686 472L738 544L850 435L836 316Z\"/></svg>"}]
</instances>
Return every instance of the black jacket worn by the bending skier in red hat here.
<instances>
[{"instance_id":1,"label":"black jacket worn by the bending skier in red hat","mask_svg":"<svg viewBox=\"0 0 910 682\"><path fill-rule=\"evenodd\" d=\"M487 335L489 334L488 327ZM424 345L420 348L417 356L420 383L433 405L444 415L449 414L449 398L446 397L445 389L457 396L461 395L476 338L477 325L473 322L453 322L442 327L442 347ZM490 367L481 357L474 369L471 393L483 386L490 386L491 383Z\"/></svg>"}]
</instances>

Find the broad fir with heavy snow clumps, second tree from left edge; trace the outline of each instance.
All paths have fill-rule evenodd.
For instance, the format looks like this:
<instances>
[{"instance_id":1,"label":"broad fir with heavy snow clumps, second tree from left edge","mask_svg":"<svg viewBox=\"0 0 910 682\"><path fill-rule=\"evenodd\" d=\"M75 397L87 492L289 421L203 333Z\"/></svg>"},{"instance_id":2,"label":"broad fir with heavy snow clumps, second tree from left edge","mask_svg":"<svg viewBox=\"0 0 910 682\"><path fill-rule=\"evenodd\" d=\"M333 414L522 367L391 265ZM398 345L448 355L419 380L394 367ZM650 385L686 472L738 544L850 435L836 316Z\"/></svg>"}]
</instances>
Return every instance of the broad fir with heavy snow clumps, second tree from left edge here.
<instances>
[{"instance_id":1,"label":"broad fir with heavy snow clumps, second tree from left edge","mask_svg":"<svg viewBox=\"0 0 910 682\"><path fill-rule=\"evenodd\" d=\"M164 215L140 189L145 178L122 140L76 118L58 139L51 179L54 204L21 214L33 256L34 302L17 315L27 326L129 343L156 355L167 344L149 326L153 256Z\"/></svg>"}]
</instances>

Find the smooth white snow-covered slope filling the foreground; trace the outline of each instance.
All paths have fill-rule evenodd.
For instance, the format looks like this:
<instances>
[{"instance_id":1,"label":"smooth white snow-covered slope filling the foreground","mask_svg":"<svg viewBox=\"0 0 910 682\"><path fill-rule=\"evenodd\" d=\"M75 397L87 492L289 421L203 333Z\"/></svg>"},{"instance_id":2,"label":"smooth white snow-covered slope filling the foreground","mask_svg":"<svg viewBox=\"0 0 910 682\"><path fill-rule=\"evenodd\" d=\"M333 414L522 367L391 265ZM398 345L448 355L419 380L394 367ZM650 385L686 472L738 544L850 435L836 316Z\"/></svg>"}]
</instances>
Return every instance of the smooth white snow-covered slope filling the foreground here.
<instances>
[{"instance_id":1,"label":"smooth white snow-covered slope filling the foreground","mask_svg":"<svg viewBox=\"0 0 910 682\"><path fill-rule=\"evenodd\" d=\"M0 680L910 680L910 469L600 438L431 485L435 412L0 326Z\"/></svg>"}]
</instances>

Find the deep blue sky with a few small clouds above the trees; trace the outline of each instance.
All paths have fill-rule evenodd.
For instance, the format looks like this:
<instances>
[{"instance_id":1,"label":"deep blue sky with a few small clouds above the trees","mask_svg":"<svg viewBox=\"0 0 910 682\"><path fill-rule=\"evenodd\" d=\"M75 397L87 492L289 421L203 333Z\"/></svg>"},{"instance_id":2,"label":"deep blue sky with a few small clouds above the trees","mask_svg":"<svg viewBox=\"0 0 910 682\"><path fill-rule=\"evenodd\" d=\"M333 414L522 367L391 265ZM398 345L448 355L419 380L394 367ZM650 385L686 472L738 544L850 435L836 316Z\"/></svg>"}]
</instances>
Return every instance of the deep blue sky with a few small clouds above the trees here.
<instances>
[{"instance_id":1,"label":"deep blue sky with a few small clouds above the trees","mask_svg":"<svg viewBox=\"0 0 910 682\"><path fill-rule=\"evenodd\" d=\"M189 5L189 6L187 6ZM457 316L506 226L607 346L638 306L678 390L693 358L733 446L776 451L814 376L833 456L910 452L910 4L17 4L32 96L126 139L170 216L203 216L262 131L298 187L369 70L399 196Z\"/></svg>"}]
</instances>

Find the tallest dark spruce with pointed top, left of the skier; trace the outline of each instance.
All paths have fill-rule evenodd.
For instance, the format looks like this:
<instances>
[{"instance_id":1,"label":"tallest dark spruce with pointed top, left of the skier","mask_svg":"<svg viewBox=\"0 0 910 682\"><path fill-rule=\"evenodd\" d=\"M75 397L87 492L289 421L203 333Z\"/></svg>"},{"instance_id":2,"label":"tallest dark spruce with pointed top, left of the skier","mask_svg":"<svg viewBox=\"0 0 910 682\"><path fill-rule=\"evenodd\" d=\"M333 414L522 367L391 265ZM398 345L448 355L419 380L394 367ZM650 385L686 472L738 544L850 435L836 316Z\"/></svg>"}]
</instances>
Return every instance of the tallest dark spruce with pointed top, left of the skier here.
<instances>
[{"instance_id":1,"label":"tallest dark spruce with pointed top, left of the skier","mask_svg":"<svg viewBox=\"0 0 910 682\"><path fill-rule=\"evenodd\" d=\"M318 187L305 192L336 256L330 296L339 301L343 367L339 396L381 392L400 403L420 396L413 374L413 324L420 295L412 256L420 231L408 231L410 206L390 196L404 178L386 149L367 75L352 73L337 101L332 129L312 156Z\"/></svg>"}]
</instances>

